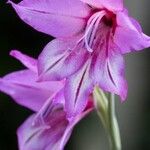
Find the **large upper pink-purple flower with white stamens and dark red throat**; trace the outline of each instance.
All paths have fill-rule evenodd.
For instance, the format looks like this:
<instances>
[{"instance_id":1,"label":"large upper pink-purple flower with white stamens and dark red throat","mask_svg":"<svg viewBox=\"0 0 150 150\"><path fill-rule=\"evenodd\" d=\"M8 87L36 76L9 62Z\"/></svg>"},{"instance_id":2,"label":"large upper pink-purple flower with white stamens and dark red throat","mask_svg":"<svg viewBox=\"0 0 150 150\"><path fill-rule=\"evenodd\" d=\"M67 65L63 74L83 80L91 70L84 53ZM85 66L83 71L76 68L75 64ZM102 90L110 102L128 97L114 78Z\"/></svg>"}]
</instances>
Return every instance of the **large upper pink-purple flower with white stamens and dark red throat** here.
<instances>
[{"instance_id":1,"label":"large upper pink-purple flower with white stamens and dark red throat","mask_svg":"<svg viewBox=\"0 0 150 150\"><path fill-rule=\"evenodd\" d=\"M150 46L122 0L23 0L12 6L27 24L57 39L39 56L39 80L62 80L68 116L101 89L127 96L123 54Z\"/></svg>"}]
</instances>

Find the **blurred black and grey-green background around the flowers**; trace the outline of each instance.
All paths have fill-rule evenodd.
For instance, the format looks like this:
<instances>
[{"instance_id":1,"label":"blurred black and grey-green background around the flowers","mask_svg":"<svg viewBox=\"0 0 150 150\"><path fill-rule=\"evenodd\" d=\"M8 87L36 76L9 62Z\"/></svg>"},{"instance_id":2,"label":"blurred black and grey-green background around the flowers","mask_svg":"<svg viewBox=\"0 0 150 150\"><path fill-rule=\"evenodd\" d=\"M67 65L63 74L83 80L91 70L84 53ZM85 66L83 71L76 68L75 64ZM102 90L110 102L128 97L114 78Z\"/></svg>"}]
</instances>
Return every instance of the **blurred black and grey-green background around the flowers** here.
<instances>
[{"instance_id":1,"label":"blurred black and grey-green background around the flowers","mask_svg":"<svg viewBox=\"0 0 150 150\"><path fill-rule=\"evenodd\" d=\"M130 15L150 35L150 1L125 0L125 4ZM24 24L11 6L0 0L0 76L23 69L18 61L9 56L10 50L18 49L37 57L51 39ZM128 99L122 104L119 98L116 99L123 150L150 150L149 56L148 49L125 56ZM31 113L0 93L0 150L18 150L16 129ZM66 150L108 150L108 140L96 113L76 126Z\"/></svg>"}]
</instances>

